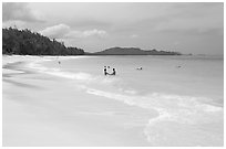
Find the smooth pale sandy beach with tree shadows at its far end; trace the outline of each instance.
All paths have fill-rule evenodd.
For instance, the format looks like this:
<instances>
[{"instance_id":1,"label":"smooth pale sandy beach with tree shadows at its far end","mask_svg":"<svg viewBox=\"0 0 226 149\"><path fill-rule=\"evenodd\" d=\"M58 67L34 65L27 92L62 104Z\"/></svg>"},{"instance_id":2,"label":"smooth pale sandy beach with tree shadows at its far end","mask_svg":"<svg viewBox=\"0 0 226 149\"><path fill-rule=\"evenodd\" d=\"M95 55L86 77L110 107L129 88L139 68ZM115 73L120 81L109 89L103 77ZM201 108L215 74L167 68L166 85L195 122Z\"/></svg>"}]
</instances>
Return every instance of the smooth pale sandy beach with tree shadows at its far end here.
<instances>
[{"instance_id":1,"label":"smooth pale sandy beach with tree shadows at its far end","mask_svg":"<svg viewBox=\"0 0 226 149\"><path fill-rule=\"evenodd\" d=\"M4 147L150 146L142 134L145 121L123 114L140 108L85 94L70 79L28 67L39 60L3 56Z\"/></svg>"}]
</instances>

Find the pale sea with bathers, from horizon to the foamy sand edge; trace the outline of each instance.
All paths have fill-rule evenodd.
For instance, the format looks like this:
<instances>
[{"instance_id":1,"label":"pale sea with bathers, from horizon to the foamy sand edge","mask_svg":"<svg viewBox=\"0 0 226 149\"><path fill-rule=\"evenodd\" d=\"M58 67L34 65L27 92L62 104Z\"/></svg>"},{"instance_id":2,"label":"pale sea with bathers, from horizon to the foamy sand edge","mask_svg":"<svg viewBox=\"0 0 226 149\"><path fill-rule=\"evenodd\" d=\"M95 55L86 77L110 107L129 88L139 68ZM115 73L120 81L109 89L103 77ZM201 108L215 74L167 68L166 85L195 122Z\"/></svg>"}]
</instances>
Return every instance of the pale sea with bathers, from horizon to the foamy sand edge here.
<instances>
[{"instance_id":1,"label":"pale sea with bathers, from horizon to the foamy sand edge","mask_svg":"<svg viewBox=\"0 0 226 149\"><path fill-rule=\"evenodd\" d=\"M224 145L223 56L55 57L44 65L35 67L86 94L147 109L141 118L150 146ZM105 76L104 66L116 75ZM147 118L148 109L157 116Z\"/></svg>"}]
</instances>

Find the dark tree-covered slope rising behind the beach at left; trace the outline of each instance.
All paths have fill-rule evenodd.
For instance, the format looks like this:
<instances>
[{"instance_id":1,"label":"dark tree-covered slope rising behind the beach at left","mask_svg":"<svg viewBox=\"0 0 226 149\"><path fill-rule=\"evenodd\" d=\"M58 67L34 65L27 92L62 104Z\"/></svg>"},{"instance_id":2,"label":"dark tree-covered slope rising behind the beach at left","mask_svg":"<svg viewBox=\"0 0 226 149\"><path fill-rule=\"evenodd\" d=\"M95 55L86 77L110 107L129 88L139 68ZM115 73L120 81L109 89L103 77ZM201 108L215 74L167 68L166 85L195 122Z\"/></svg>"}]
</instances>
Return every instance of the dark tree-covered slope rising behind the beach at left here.
<instances>
[{"instance_id":1,"label":"dark tree-covered slope rising behind the beach at left","mask_svg":"<svg viewBox=\"0 0 226 149\"><path fill-rule=\"evenodd\" d=\"M78 47L66 47L63 42L50 40L30 30L2 29L2 54L18 55L83 55Z\"/></svg>"}]
</instances>

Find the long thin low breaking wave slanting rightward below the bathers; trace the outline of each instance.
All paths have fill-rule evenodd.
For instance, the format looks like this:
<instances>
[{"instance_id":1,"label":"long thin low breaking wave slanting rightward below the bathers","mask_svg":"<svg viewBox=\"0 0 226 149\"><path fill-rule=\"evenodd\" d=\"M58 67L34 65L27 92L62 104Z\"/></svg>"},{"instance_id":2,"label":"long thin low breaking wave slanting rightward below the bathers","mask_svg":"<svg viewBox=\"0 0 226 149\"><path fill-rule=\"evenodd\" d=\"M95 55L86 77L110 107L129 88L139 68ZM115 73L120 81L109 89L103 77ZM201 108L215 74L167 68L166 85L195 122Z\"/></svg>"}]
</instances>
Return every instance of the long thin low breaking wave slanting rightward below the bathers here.
<instances>
[{"instance_id":1,"label":"long thin low breaking wave slanting rightward below the bathers","mask_svg":"<svg viewBox=\"0 0 226 149\"><path fill-rule=\"evenodd\" d=\"M136 91L123 91L123 94L117 94L117 93L97 91L94 88L88 88L86 92L89 94L122 100L129 105L137 105L143 108L155 108L160 113L163 113L163 110L166 110L166 109L171 111L174 111L174 109L181 109L183 111L192 110L193 113L199 111L199 110L210 113L210 111L219 111L223 109L222 107L198 102L198 100L209 100L208 98L205 98L205 97L179 96L179 95L170 95L170 94L163 94L163 93L152 93L152 94L142 96L142 95L137 95Z\"/></svg>"}]
</instances>

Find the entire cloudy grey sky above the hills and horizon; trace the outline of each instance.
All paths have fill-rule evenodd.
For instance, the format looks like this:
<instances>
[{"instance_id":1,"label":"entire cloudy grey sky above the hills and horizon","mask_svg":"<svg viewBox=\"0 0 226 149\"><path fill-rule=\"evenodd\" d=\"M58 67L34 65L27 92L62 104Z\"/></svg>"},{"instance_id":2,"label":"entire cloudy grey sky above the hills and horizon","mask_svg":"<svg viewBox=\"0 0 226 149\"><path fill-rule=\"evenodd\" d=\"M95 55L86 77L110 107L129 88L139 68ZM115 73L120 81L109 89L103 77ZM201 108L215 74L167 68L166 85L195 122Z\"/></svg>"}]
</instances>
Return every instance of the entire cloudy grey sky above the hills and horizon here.
<instances>
[{"instance_id":1,"label":"entire cloudy grey sky above the hills and horizon","mask_svg":"<svg viewBox=\"0 0 226 149\"><path fill-rule=\"evenodd\" d=\"M223 2L3 2L2 28L86 52L113 46L224 54Z\"/></svg>"}]
</instances>

